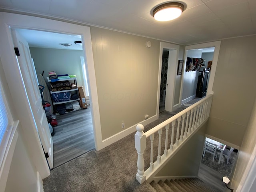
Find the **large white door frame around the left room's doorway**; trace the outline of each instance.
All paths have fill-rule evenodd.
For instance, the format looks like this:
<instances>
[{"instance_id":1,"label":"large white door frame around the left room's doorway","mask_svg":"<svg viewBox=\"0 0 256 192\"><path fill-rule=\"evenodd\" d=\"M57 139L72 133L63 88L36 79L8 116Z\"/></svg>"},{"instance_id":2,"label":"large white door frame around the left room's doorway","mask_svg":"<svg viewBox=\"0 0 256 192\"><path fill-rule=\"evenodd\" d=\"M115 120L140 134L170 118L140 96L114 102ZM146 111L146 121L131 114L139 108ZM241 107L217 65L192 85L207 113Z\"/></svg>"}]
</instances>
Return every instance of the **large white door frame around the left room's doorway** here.
<instances>
[{"instance_id":1,"label":"large white door frame around the left room's doorway","mask_svg":"<svg viewBox=\"0 0 256 192\"><path fill-rule=\"evenodd\" d=\"M22 123L24 135L26 138L29 138L27 139L26 147L28 148L37 170L40 172L41 178L45 178L50 172L36 129L31 129L31 125L33 124L33 114L28 103L26 88L22 76L20 75L20 66L16 60L10 28L79 34L82 36L84 58L86 59L88 68L88 86L90 90L95 147L96 150L100 150L103 147L90 27L46 18L0 12L0 58L14 100L14 106L16 106L17 117Z\"/></svg>"}]
</instances>

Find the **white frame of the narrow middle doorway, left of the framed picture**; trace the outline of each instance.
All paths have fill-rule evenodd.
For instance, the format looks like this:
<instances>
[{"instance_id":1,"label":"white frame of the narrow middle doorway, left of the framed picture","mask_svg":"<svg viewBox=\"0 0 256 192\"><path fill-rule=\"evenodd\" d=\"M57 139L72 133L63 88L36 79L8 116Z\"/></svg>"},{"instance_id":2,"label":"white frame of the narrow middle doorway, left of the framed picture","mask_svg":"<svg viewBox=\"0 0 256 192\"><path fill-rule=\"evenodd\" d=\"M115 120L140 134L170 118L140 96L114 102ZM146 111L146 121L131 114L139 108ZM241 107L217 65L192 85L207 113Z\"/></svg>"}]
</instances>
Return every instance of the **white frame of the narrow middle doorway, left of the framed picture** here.
<instances>
[{"instance_id":1,"label":"white frame of the narrow middle doorway, left of the framed picture","mask_svg":"<svg viewBox=\"0 0 256 192\"><path fill-rule=\"evenodd\" d=\"M178 65L178 56L180 46L160 42L160 56L159 56L159 69L158 69L158 95L157 95L157 106L156 112L159 117L159 104L160 104L160 88L161 88L161 74L162 74L162 58L163 58L163 49L169 50L168 56L168 68L167 68L167 82L166 82L166 96L165 96L165 110L172 112L174 108L174 93L175 93L175 84L176 84L176 71ZM168 87L167 87L168 85Z\"/></svg>"}]
</instances>

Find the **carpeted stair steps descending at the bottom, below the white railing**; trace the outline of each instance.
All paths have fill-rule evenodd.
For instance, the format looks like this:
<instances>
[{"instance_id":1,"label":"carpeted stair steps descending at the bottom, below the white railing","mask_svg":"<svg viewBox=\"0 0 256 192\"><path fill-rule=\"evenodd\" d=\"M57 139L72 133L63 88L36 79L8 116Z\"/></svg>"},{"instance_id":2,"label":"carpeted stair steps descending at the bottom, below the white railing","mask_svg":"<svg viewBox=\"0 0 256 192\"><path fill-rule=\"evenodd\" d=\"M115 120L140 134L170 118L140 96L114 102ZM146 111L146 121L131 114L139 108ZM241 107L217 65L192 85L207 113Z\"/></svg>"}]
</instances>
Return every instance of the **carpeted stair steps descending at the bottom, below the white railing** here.
<instances>
[{"instance_id":1,"label":"carpeted stair steps descending at the bottom, below the white railing","mask_svg":"<svg viewBox=\"0 0 256 192\"><path fill-rule=\"evenodd\" d=\"M160 180L158 183L152 181L150 185L156 192L219 192L198 178Z\"/></svg>"}]
</instances>

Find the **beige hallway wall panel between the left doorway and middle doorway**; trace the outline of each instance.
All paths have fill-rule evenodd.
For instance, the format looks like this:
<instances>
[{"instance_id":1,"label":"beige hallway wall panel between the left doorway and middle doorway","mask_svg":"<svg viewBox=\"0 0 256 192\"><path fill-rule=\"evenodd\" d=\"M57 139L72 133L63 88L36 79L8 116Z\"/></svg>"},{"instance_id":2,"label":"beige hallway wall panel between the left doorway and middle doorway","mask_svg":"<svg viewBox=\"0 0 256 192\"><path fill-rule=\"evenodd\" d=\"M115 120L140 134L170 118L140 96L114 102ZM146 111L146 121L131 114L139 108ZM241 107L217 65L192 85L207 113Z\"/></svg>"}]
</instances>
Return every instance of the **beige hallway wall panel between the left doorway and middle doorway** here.
<instances>
[{"instance_id":1,"label":"beige hallway wall panel between the left doorway and middle doorway","mask_svg":"<svg viewBox=\"0 0 256 192\"><path fill-rule=\"evenodd\" d=\"M91 27L102 139L156 115L160 41ZM146 48L145 42L152 42Z\"/></svg>"}]
</instances>

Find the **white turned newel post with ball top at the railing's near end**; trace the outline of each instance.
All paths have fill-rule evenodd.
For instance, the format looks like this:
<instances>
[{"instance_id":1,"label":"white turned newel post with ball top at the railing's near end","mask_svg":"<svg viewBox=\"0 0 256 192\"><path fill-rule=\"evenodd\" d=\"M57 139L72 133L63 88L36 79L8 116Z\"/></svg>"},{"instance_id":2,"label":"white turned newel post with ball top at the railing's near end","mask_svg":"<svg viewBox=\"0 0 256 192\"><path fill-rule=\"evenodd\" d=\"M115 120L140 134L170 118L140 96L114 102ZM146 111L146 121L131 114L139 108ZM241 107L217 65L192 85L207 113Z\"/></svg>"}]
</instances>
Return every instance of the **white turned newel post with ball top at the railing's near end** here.
<instances>
[{"instance_id":1,"label":"white turned newel post with ball top at the railing's near end","mask_svg":"<svg viewBox=\"0 0 256 192\"><path fill-rule=\"evenodd\" d=\"M135 148L138 153L138 160L137 160L137 167L138 172L136 174L136 179L140 184L146 181L146 175L144 174L144 151L146 149L146 135L144 134L144 126L142 124L138 124L136 126L136 134L134 135L135 138Z\"/></svg>"}]
</instances>

